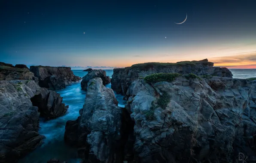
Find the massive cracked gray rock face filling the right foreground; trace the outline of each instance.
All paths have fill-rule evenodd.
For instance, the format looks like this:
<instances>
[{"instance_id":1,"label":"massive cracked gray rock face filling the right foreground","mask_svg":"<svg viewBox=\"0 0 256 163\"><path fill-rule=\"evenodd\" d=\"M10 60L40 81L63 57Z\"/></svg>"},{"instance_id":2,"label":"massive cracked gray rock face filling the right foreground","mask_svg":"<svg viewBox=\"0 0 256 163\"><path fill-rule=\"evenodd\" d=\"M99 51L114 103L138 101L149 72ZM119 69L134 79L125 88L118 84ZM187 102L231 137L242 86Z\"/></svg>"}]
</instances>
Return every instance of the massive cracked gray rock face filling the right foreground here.
<instances>
[{"instance_id":1,"label":"massive cracked gray rock face filling the right foreground","mask_svg":"<svg viewBox=\"0 0 256 163\"><path fill-rule=\"evenodd\" d=\"M255 81L180 76L129 91L136 161L233 163L240 152L256 161Z\"/></svg>"}]
</instances>

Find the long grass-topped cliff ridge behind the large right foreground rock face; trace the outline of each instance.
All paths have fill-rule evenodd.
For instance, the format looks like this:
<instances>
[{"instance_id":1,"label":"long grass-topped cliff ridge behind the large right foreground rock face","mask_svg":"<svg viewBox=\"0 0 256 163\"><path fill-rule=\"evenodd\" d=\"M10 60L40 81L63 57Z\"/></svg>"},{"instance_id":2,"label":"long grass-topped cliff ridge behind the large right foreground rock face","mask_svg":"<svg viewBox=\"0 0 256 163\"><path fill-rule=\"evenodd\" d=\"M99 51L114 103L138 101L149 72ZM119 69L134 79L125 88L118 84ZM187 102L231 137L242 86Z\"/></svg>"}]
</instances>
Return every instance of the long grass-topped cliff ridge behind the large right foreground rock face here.
<instances>
[{"instance_id":1,"label":"long grass-topped cliff ridge behind the large right foreground rock face","mask_svg":"<svg viewBox=\"0 0 256 163\"><path fill-rule=\"evenodd\" d=\"M232 78L232 73L229 69L213 67L213 63L208 62L207 59L177 63L140 63L134 64L131 67L114 69L111 88L117 94L125 95L125 99L127 100L130 97L130 94L127 94L127 90L134 80L159 72L193 73L195 75L213 75Z\"/></svg>"}]
</instances>

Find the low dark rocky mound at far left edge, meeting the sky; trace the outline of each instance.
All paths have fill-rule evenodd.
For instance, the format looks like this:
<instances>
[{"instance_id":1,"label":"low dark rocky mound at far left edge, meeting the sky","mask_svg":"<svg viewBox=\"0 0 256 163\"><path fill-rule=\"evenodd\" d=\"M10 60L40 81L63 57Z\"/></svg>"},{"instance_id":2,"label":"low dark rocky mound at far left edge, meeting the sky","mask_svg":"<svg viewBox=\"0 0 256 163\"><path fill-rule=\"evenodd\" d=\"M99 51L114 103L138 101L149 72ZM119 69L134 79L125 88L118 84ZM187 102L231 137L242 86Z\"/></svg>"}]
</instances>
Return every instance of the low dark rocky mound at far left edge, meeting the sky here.
<instances>
[{"instance_id":1,"label":"low dark rocky mound at far left edge, meeting the sky","mask_svg":"<svg viewBox=\"0 0 256 163\"><path fill-rule=\"evenodd\" d=\"M0 80L35 80L34 74L29 71L26 65L0 62Z\"/></svg>"}]
</instances>

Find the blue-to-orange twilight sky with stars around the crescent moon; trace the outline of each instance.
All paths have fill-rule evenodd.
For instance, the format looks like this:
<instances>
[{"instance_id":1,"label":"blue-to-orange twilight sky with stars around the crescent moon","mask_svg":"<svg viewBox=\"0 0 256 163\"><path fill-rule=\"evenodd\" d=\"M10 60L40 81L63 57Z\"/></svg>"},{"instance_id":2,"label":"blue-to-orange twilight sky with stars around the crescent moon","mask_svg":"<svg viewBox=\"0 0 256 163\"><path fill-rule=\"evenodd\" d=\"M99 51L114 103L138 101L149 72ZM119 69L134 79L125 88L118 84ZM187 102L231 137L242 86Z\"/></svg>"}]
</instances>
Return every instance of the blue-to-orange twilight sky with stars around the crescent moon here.
<instances>
[{"instance_id":1,"label":"blue-to-orange twilight sky with stars around the crescent moon","mask_svg":"<svg viewBox=\"0 0 256 163\"><path fill-rule=\"evenodd\" d=\"M0 0L2 62L114 68L205 58L256 68L255 0Z\"/></svg>"}]
</instances>

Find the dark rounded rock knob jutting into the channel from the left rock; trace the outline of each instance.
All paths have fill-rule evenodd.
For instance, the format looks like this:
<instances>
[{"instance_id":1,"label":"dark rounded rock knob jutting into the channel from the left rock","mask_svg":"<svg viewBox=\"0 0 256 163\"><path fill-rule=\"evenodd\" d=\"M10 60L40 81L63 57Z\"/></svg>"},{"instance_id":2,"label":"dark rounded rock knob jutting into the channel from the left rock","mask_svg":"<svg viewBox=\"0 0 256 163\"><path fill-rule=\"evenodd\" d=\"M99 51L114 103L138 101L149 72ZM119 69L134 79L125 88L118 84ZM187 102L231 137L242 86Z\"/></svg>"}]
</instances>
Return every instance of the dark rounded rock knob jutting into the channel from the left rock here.
<instances>
[{"instance_id":1,"label":"dark rounded rock knob jutting into the channel from the left rock","mask_svg":"<svg viewBox=\"0 0 256 163\"><path fill-rule=\"evenodd\" d=\"M40 88L41 93L31 98L33 106L38 107L40 116L54 119L64 115L68 106L62 103L62 97L55 91L49 91L47 88Z\"/></svg>"}]
</instances>

